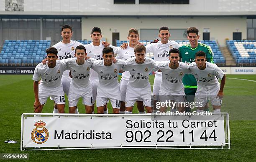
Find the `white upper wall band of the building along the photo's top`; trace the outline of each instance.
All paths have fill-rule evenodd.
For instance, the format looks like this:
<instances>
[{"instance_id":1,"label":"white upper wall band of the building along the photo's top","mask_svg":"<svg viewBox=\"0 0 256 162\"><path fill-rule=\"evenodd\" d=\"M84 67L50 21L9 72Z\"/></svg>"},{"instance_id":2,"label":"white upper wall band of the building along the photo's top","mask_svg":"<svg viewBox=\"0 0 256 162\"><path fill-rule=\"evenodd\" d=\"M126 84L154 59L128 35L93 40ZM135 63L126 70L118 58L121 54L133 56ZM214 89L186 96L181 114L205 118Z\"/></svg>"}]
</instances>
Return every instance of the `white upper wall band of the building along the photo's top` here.
<instances>
[{"instance_id":1,"label":"white upper wall band of the building along the photo's top","mask_svg":"<svg viewBox=\"0 0 256 162\"><path fill-rule=\"evenodd\" d=\"M190 0L189 5L120 5L114 0L24 0L24 12L0 14L52 15L255 15L255 0Z\"/></svg>"}]
</instances>

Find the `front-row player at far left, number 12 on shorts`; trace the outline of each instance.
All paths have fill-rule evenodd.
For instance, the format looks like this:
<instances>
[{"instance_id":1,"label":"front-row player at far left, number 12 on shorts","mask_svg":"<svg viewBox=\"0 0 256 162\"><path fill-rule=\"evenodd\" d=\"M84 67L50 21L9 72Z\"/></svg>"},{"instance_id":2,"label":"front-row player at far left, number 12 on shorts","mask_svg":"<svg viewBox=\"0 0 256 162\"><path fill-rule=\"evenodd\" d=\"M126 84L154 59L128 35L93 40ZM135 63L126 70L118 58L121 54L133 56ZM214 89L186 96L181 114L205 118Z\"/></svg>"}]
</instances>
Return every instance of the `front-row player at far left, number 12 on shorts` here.
<instances>
[{"instance_id":1,"label":"front-row player at far left, number 12 on shorts","mask_svg":"<svg viewBox=\"0 0 256 162\"><path fill-rule=\"evenodd\" d=\"M57 60L58 50L50 47L46 50L47 63L40 63L36 66L33 75L33 89L35 94L34 112L41 113L48 97L52 97L56 103L59 113L64 113L65 97L61 77L67 65ZM38 81L41 83L38 85Z\"/></svg>"}]
</instances>

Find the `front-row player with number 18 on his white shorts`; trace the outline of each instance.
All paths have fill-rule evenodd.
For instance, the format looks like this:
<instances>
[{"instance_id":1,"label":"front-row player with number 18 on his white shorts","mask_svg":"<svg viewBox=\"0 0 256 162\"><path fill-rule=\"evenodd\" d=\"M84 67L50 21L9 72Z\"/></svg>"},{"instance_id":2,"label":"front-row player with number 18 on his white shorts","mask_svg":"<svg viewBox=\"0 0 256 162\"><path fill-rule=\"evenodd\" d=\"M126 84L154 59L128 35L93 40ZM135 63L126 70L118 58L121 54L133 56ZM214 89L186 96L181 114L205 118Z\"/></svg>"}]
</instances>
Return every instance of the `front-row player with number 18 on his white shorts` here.
<instances>
[{"instance_id":1,"label":"front-row player with number 18 on his white shorts","mask_svg":"<svg viewBox=\"0 0 256 162\"><path fill-rule=\"evenodd\" d=\"M112 47L104 47L102 53L104 60L96 60L91 67L97 72L99 79L96 97L97 113L103 113L108 100L113 107L113 113L119 113L121 96L118 74L125 61L117 59L115 64L113 63L114 50Z\"/></svg>"}]
</instances>

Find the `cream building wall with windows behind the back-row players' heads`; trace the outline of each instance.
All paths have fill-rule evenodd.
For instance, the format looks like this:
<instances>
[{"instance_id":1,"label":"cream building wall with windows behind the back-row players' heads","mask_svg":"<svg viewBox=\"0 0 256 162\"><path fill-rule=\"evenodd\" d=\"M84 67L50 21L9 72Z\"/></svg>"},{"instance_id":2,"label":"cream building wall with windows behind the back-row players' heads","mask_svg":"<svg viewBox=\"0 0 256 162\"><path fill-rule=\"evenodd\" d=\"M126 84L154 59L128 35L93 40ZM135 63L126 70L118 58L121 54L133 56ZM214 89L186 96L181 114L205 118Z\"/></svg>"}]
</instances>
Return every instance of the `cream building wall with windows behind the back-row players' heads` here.
<instances>
[{"instance_id":1,"label":"cream building wall with windows behind the back-row players' heads","mask_svg":"<svg viewBox=\"0 0 256 162\"><path fill-rule=\"evenodd\" d=\"M233 40L233 32L242 32L242 39L247 37L246 17L83 17L82 39L91 39L93 27L100 27L103 37L112 43L112 32L119 32L120 40L127 40L128 30L132 27L140 30L158 29L161 26L170 29L197 27L200 40L203 29L209 28L211 40L218 40L221 46L225 46L226 38Z\"/></svg>"}]
</instances>

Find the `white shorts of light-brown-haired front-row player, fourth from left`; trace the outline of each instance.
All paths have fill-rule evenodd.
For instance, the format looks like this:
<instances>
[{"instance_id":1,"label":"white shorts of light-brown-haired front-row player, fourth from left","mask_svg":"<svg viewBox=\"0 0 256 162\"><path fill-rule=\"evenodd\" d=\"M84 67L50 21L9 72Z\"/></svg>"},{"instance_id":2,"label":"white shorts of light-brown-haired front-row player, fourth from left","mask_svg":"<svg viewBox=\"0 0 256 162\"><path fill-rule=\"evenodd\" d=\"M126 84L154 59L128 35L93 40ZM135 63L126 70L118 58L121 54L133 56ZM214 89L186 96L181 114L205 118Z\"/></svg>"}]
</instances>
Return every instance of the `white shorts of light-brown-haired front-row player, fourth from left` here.
<instances>
[{"instance_id":1,"label":"white shorts of light-brown-haired front-row player, fourth from left","mask_svg":"<svg viewBox=\"0 0 256 162\"><path fill-rule=\"evenodd\" d=\"M125 106L134 106L136 101L143 101L144 106L151 107L151 86L148 84L143 88L127 85Z\"/></svg>"}]
</instances>

